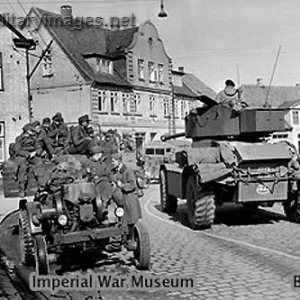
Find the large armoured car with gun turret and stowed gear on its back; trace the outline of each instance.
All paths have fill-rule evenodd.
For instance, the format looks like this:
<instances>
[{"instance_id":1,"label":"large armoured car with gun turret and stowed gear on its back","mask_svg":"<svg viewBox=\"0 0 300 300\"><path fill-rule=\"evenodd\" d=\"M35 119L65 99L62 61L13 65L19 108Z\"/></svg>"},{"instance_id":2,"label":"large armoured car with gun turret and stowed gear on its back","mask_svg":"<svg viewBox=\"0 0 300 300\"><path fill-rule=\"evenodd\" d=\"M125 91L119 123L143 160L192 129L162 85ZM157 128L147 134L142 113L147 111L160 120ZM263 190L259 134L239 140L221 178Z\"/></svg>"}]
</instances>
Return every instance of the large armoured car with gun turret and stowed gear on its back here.
<instances>
[{"instance_id":1,"label":"large armoured car with gun turret and stowed gear on its back","mask_svg":"<svg viewBox=\"0 0 300 300\"><path fill-rule=\"evenodd\" d=\"M186 199L190 227L206 229L216 206L225 202L248 208L282 202L287 218L299 222L297 151L288 143L264 142L272 132L291 130L284 111L236 111L212 99L208 103L186 116L185 132L161 138L193 140L191 148L175 153L173 162L160 165L162 211L174 213L177 199Z\"/></svg>"}]
</instances>

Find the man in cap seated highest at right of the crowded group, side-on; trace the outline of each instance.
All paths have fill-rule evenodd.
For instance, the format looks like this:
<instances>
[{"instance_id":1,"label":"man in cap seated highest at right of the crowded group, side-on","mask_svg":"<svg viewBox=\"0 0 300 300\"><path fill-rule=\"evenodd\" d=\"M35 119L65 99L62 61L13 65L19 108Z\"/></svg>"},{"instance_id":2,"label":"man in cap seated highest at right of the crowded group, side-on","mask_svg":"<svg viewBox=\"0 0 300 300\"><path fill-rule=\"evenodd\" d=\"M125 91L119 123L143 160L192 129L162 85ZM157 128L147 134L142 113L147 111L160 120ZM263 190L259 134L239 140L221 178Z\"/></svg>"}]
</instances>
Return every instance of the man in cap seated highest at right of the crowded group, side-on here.
<instances>
[{"instance_id":1,"label":"man in cap seated highest at right of the crowded group, side-on","mask_svg":"<svg viewBox=\"0 0 300 300\"><path fill-rule=\"evenodd\" d=\"M71 134L71 142L69 147L70 154L92 155L92 147L94 143L89 136L88 128L90 123L88 115L81 116L78 119L78 126L74 127Z\"/></svg>"}]
</instances>

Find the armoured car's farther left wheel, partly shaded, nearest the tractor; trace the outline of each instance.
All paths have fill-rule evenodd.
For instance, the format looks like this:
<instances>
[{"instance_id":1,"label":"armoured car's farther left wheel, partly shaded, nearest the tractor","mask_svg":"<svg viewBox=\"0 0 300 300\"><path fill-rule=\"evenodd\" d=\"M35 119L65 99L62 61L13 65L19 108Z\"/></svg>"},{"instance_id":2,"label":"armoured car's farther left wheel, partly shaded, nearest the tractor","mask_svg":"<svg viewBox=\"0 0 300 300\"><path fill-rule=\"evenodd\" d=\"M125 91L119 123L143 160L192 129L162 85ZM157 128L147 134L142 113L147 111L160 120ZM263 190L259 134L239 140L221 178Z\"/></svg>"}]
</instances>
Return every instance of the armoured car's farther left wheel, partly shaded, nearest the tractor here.
<instances>
[{"instance_id":1,"label":"armoured car's farther left wheel, partly shaded, nearest the tractor","mask_svg":"<svg viewBox=\"0 0 300 300\"><path fill-rule=\"evenodd\" d=\"M159 172L159 184L161 210L166 213L175 213L177 210L177 198L168 194L165 170L160 170Z\"/></svg>"}]
</instances>

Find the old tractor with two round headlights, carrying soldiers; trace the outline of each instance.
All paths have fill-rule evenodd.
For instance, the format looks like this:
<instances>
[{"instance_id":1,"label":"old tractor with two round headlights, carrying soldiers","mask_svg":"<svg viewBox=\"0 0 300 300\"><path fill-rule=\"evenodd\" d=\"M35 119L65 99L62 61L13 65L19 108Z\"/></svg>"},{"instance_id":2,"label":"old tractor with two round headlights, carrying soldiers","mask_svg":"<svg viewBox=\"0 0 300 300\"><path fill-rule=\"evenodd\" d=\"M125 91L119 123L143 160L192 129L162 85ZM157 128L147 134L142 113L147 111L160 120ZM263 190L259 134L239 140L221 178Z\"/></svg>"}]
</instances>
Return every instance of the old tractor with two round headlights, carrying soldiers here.
<instances>
[{"instance_id":1,"label":"old tractor with two round headlights, carrying soldiers","mask_svg":"<svg viewBox=\"0 0 300 300\"><path fill-rule=\"evenodd\" d=\"M98 190L97 190L98 191ZM114 201L105 205L104 190L96 191L94 182L74 181L73 177L51 179L46 190L33 202L19 202L19 239L21 261L36 266L37 273L47 275L49 262L64 262L72 255L94 253L107 245L127 247L128 227L124 210ZM138 269L148 269L150 241L141 221L135 224L136 249L133 258ZM129 250L130 251L130 250Z\"/></svg>"}]
</instances>

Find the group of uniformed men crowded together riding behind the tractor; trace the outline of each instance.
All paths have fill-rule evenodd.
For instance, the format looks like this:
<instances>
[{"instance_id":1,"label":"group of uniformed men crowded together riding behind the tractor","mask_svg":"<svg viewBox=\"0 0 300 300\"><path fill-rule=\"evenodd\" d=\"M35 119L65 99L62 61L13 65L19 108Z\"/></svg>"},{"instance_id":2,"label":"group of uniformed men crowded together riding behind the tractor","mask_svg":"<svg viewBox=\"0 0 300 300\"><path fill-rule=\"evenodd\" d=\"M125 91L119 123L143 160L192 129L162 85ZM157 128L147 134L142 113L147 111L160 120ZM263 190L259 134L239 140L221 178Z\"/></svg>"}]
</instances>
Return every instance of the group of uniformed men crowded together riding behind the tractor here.
<instances>
[{"instance_id":1,"label":"group of uniformed men crowded together riding behind the tractor","mask_svg":"<svg viewBox=\"0 0 300 300\"><path fill-rule=\"evenodd\" d=\"M92 157L95 149L103 155L118 153L124 146L117 131L110 129L105 135L96 133L88 115L78 119L78 125L68 127L61 113L34 121L22 128L14 143L9 145L9 154L14 161L14 176L19 185L19 196L24 197L28 185L29 170L33 171L38 185L44 183L45 163L59 156L85 155Z\"/></svg>"}]
</instances>

